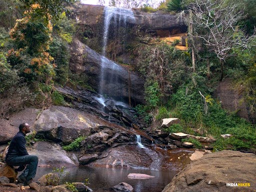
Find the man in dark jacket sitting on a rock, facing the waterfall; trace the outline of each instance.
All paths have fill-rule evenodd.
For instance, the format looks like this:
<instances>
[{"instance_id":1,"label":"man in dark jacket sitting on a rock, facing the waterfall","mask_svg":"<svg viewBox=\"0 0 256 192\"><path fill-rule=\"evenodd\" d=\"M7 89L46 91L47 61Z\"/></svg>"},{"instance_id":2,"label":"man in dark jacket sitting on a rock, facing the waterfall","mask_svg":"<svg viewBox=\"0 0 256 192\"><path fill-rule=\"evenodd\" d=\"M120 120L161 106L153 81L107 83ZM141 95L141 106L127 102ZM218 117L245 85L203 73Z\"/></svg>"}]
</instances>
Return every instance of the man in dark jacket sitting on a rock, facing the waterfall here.
<instances>
[{"instance_id":1,"label":"man in dark jacket sitting on a rock, facing the waterfall","mask_svg":"<svg viewBox=\"0 0 256 192\"><path fill-rule=\"evenodd\" d=\"M28 185L35 176L38 157L29 155L26 151L25 134L30 132L29 125L22 123L18 128L19 131L10 141L5 159L8 165L19 166L15 169L16 171L21 171L26 166L25 170L17 177L17 180L24 183L24 185Z\"/></svg>"}]
</instances>

